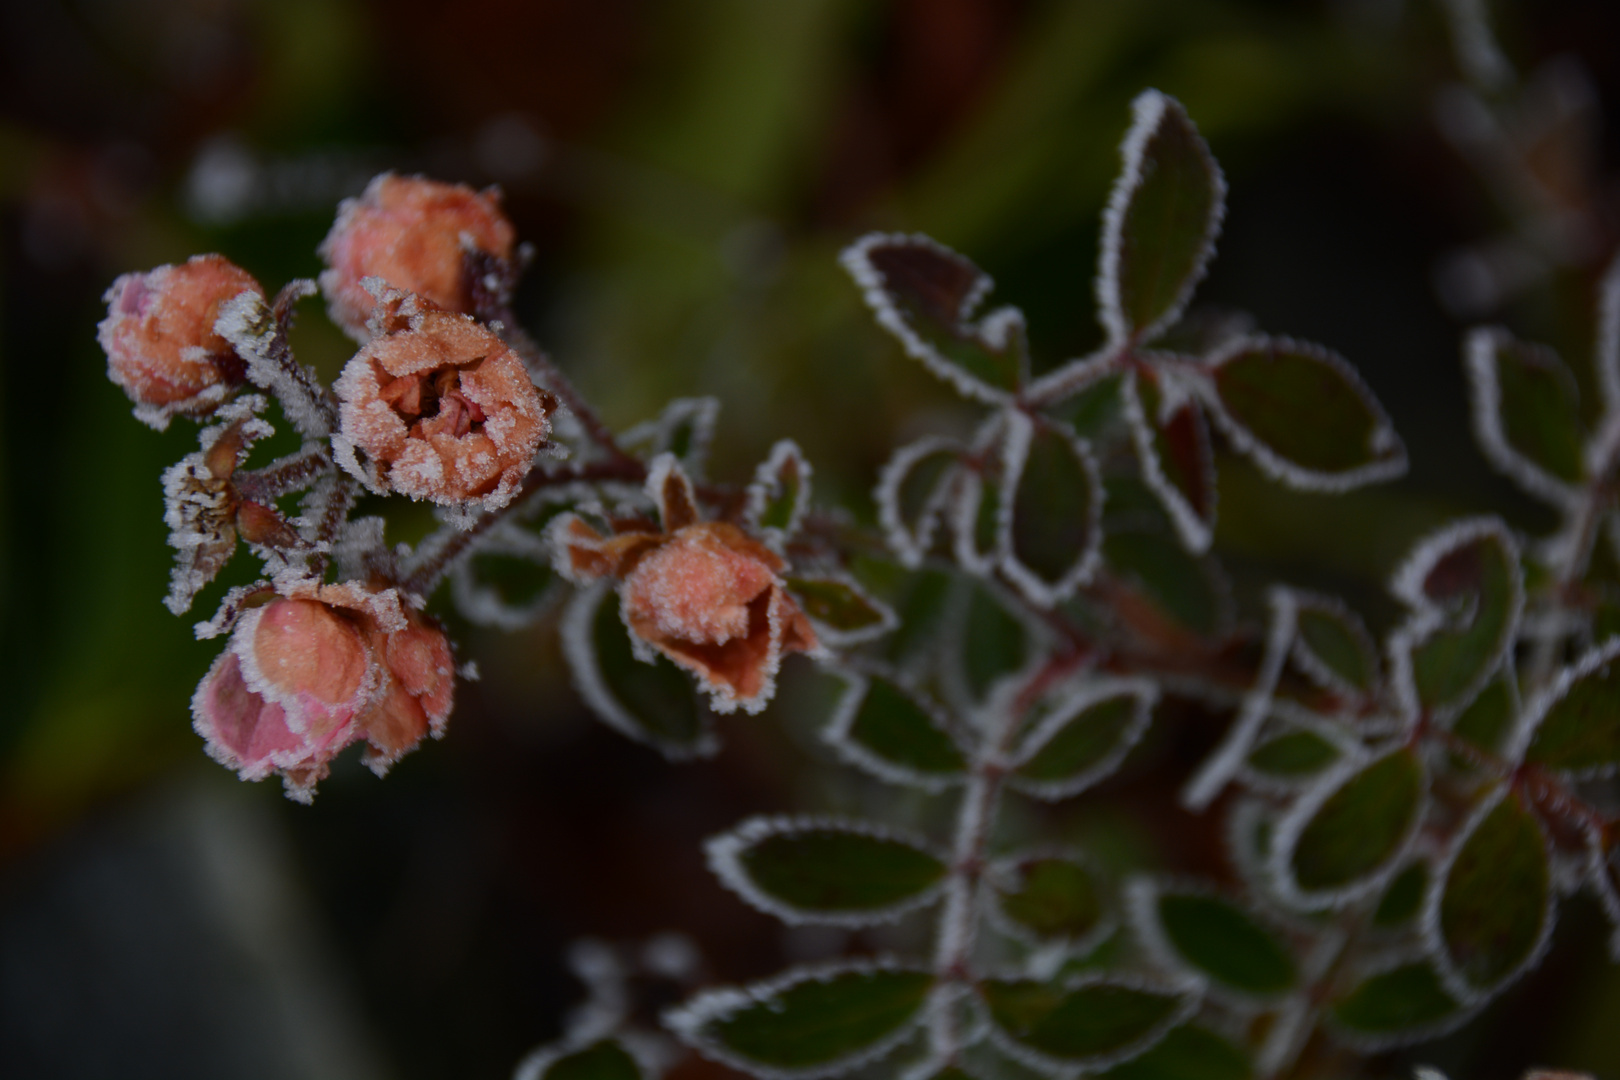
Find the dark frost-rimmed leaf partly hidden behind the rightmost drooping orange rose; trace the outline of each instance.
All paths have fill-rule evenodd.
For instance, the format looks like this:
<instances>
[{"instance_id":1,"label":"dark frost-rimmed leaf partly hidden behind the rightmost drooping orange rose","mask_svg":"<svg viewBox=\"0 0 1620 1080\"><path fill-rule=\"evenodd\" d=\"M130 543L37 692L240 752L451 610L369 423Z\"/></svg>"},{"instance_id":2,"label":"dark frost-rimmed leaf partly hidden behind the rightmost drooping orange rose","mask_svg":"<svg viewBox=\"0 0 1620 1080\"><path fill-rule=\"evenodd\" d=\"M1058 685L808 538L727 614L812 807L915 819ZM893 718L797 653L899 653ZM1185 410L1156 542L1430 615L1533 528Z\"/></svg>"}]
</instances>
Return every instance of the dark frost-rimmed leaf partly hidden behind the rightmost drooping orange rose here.
<instances>
[{"instance_id":1,"label":"dark frost-rimmed leaf partly hidden behind the rightmost drooping orange rose","mask_svg":"<svg viewBox=\"0 0 1620 1080\"><path fill-rule=\"evenodd\" d=\"M714 753L713 721L692 682L663 656L651 664L635 657L609 583L573 597L564 617L562 649L580 696L609 727L674 759Z\"/></svg>"}]
</instances>

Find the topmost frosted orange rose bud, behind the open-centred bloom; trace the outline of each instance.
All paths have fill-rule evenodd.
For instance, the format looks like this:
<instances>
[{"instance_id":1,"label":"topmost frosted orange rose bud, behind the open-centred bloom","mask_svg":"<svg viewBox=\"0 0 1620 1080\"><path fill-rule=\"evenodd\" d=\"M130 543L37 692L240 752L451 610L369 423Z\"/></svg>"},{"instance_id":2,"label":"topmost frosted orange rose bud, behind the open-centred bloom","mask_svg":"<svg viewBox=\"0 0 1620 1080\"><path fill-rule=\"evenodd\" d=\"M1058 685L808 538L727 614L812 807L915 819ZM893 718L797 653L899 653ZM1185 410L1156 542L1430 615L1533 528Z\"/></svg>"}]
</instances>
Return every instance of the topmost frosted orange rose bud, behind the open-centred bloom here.
<instances>
[{"instance_id":1,"label":"topmost frosted orange rose bud, behind the open-centred bloom","mask_svg":"<svg viewBox=\"0 0 1620 1080\"><path fill-rule=\"evenodd\" d=\"M332 232L321 241L321 274L332 321L358 342L369 334L374 300L368 277L426 296L446 311L471 314L478 282L468 266L483 256L499 275L512 266L515 232L501 212L497 188L473 191L423 176L382 173L358 199L343 199Z\"/></svg>"}]
</instances>

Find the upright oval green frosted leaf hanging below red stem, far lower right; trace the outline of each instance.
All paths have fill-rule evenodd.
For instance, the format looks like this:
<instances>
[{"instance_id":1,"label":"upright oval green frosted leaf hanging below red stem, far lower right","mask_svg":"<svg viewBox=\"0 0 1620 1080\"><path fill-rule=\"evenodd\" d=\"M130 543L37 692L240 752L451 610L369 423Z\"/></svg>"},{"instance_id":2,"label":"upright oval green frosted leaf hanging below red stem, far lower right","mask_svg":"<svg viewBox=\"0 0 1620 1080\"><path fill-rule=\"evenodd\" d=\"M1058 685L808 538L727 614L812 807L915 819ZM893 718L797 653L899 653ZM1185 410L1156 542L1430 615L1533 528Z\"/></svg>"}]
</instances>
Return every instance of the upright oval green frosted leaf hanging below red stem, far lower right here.
<instances>
[{"instance_id":1,"label":"upright oval green frosted leaf hanging below red stem, far lower right","mask_svg":"<svg viewBox=\"0 0 1620 1080\"><path fill-rule=\"evenodd\" d=\"M1442 975L1473 993L1511 981L1552 929L1547 837L1534 813L1498 789L1464 827L1439 895Z\"/></svg>"}]
</instances>

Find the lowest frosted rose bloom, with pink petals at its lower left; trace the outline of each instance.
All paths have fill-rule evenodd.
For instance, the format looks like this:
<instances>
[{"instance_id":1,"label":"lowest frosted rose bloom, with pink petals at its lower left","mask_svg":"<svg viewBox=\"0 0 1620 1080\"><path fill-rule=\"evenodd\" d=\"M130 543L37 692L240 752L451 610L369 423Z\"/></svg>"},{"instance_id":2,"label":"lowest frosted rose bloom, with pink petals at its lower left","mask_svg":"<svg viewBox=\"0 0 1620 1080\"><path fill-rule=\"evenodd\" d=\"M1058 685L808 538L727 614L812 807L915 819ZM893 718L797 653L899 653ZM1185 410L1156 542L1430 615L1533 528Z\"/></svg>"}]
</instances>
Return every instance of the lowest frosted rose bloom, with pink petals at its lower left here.
<instances>
[{"instance_id":1,"label":"lowest frosted rose bloom, with pink petals at its lower left","mask_svg":"<svg viewBox=\"0 0 1620 1080\"><path fill-rule=\"evenodd\" d=\"M454 678L444 633L394 589L305 581L237 620L191 698L193 727L241 779L279 772L309 801L350 743L368 743L381 776L442 735Z\"/></svg>"}]
</instances>

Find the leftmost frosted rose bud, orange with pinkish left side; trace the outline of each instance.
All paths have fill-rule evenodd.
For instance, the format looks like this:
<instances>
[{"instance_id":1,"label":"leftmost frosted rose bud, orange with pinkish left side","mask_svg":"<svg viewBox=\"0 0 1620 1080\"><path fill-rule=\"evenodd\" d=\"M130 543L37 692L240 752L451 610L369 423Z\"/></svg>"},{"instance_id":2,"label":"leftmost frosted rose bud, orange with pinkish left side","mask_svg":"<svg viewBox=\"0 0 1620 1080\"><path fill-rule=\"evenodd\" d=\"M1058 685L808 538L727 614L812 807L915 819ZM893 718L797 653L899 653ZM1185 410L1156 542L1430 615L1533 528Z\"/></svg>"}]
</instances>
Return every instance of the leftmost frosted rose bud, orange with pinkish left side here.
<instances>
[{"instance_id":1,"label":"leftmost frosted rose bud, orange with pinkish left side","mask_svg":"<svg viewBox=\"0 0 1620 1080\"><path fill-rule=\"evenodd\" d=\"M136 416L164 429L177 413L212 411L241 384L245 364L214 321L220 304L245 291L264 296L253 275L217 254L112 283L97 338L107 374L134 402Z\"/></svg>"}]
</instances>

